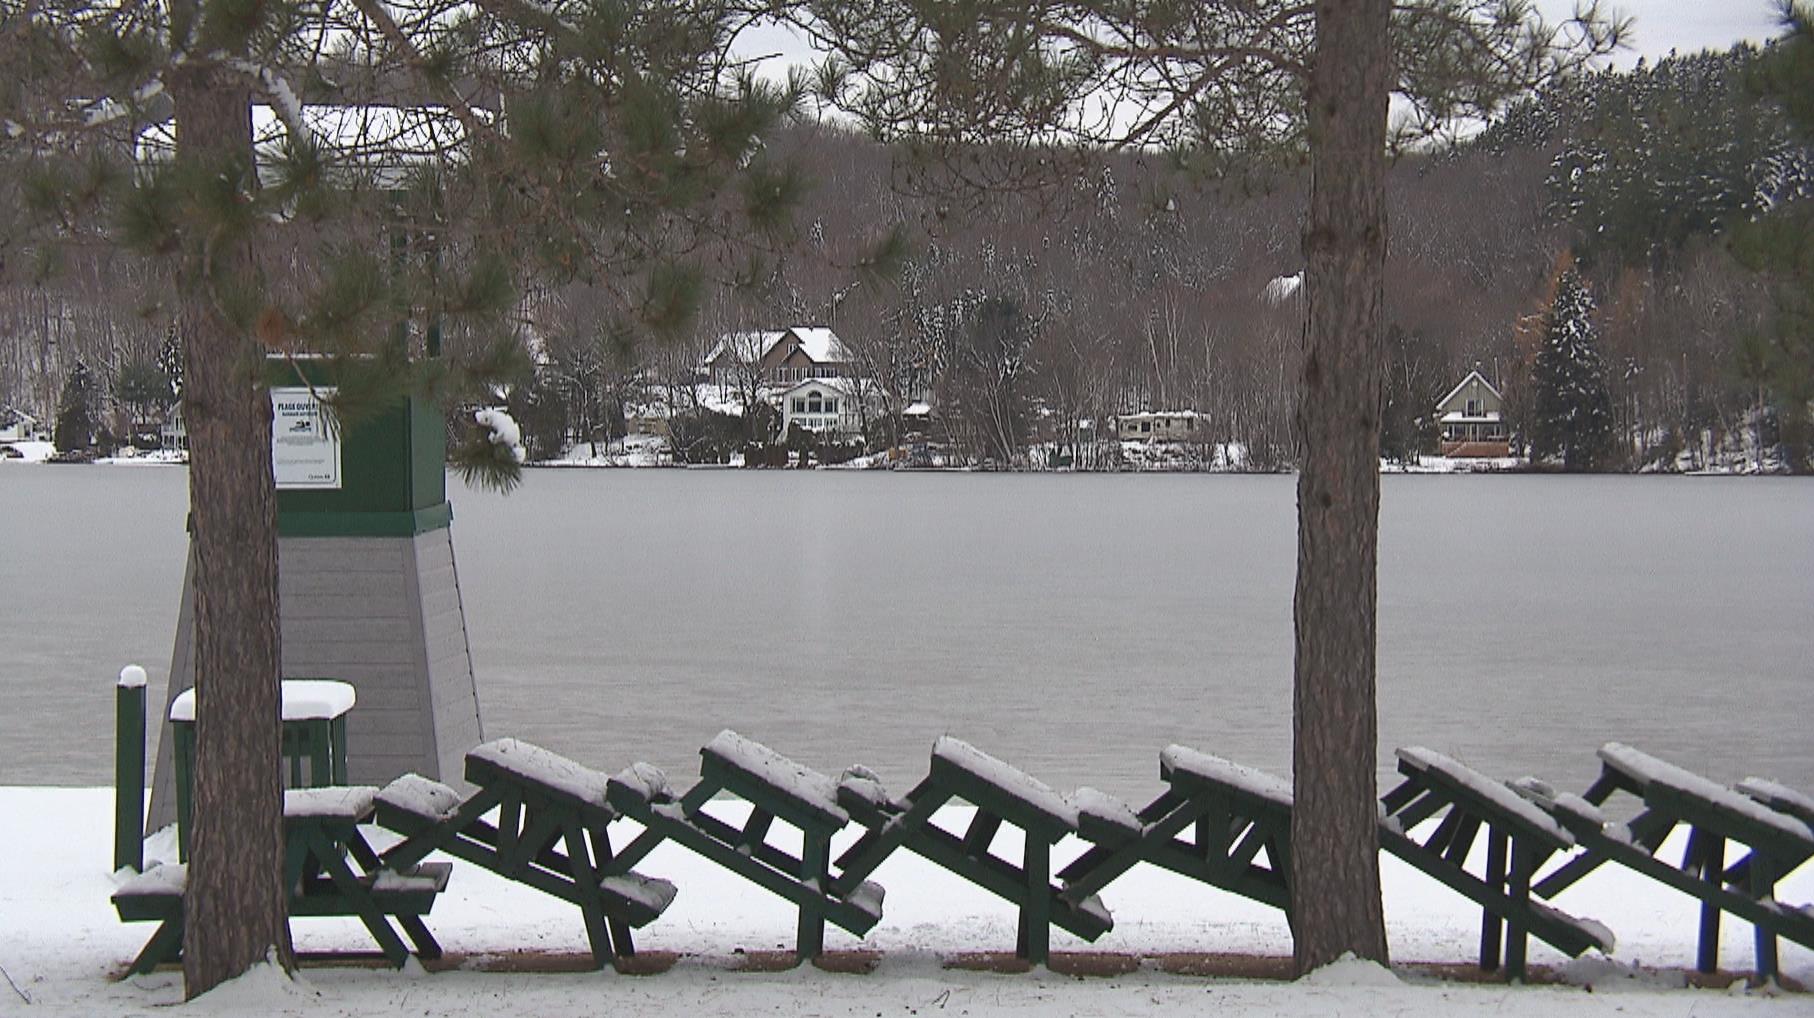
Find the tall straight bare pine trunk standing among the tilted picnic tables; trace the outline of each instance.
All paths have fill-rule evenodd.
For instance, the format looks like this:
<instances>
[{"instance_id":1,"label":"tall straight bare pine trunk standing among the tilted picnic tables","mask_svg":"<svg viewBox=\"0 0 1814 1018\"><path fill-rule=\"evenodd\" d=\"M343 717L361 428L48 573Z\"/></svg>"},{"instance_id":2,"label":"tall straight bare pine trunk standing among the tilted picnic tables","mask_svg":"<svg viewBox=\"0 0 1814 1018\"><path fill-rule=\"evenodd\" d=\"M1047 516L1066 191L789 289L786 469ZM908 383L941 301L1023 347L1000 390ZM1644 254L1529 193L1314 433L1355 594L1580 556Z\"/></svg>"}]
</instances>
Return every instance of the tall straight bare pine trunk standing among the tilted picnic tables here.
<instances>
[{"instance_id":1,"label":"tall straight bare pine trunk standing among the tilted picnic tables","mask_svg":"<svg viewBox=\"0 0 1814 1018\"><path fill-rule=\"evenodd\" d=\"M1293 621L1297 971L1386 962L1375 608L1391 0L1317 4Z\"/></svg>"}]
</instances>

